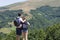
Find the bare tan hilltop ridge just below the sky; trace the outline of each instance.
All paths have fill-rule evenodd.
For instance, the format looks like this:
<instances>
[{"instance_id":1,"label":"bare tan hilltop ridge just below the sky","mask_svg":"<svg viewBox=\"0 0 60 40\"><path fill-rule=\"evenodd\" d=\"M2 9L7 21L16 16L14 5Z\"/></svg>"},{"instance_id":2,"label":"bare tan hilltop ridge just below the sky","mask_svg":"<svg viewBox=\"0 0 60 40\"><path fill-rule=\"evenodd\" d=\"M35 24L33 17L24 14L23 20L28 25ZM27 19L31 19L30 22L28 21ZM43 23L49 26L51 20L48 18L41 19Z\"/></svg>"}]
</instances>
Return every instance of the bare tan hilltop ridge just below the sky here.
<instances>
[{"instance_id":1,"label":"bare tan hilltop ridge just below the sky","mask_svg":"<svg viewBox=\"0 0 60 40\"><path fill-rule=\"evenodd\" d=\"M60 0L28 0L25 2L18 2L8 6L3 7L3 9L7 8L9 10L19 10L23 9L24 11L29 11L30 9L35 9L41 7L43 5L50 5L58 7L60 6Z\"/></svg>"}]
</instances>

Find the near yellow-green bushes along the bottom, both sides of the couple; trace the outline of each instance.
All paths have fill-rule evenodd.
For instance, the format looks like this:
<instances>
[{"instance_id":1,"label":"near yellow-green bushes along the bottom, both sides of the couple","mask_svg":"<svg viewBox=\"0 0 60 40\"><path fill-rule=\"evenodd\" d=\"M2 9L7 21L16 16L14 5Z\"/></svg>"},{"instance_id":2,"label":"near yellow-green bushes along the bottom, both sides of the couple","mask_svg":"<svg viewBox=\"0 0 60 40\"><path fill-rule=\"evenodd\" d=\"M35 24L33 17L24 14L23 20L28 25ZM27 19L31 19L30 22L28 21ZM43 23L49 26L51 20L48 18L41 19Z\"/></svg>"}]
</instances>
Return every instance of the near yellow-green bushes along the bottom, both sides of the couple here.
<instances>
[{"instance_id":1,"label":"near yellow-green bushes along the bottom, both sides of the couple","mask_svg":"<svg viewBox=\"0 0 60 40\"><path fill-rule=\"evenodd\" d=\"M22 39L22 37L21 37ZM47 27L46 30L40 29L30 29L29 40L60 40L60 24L54 24ZM9 34L0 33L0 40L16 40L15 31L11 31Z\"/></svg>"}]
</instances>

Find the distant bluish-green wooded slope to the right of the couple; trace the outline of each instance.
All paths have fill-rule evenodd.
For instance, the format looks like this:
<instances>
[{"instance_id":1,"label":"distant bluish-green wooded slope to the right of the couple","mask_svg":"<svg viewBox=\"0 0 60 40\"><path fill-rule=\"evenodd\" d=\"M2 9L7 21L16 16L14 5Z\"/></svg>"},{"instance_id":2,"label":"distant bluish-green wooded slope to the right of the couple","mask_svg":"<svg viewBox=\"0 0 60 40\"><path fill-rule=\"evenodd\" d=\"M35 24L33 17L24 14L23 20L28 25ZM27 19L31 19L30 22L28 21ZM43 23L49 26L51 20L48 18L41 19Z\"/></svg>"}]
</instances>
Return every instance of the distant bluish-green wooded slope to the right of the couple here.
<instances>
[{"instance_id":1,"label":"distant bluish-green wooded slope to the right of the couple","mask_svg":"<svg viewBox=\"0 0 60 40\"><path fill-rule=\"evenodd\" d=\"M32 27L46 28L56 23L60 23L60 7L42 6L36 10L31 10L33 15L30 20Z\"/></svg>"}]
</instances>

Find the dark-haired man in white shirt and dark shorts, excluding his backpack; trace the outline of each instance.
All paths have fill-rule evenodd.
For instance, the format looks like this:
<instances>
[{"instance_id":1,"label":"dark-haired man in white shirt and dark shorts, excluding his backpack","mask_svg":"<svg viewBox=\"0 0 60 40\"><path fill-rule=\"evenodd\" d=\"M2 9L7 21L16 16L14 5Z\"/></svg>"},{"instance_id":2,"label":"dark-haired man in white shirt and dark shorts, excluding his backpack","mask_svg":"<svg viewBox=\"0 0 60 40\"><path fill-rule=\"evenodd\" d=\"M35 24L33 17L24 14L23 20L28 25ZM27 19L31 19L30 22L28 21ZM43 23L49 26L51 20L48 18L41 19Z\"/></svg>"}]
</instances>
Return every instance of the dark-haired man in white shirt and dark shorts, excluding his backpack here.
<instances>
[{"instance_id":1,"label":"dark-haired man in white shirt and dark shorts, excluding his backpack","mask_svg":"<svg viewBox=\"0 0 60 40\"><path fill-rule=\"evenodd\" d=\"M21 14L20 13L18 13L18 17L17 18L19 18L19 21L21 21L21 22L25 22L26 20L22 20L22 18L21 18ZM17 26L16 27L16 40L20 40L20 35L22 34L22 23L20 23L20 26Z\"/></svg>"}]
</instances>

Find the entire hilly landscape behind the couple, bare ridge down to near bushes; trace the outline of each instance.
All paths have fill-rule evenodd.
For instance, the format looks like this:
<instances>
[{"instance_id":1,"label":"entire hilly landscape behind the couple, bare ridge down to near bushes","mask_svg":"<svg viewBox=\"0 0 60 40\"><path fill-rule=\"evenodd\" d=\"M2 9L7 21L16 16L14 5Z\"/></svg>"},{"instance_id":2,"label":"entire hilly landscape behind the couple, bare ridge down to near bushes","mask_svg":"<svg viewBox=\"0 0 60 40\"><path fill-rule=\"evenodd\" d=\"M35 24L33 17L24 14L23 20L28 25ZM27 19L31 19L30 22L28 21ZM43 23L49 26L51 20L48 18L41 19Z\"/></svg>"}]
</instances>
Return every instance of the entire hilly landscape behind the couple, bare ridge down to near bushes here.
<instances>
[{"instance_id":1,"label":"entire hilly landscape behind the couple, bare ridge down to near bushes","mask_svg":"<svg viewBox=\"0 0 60 40\"><path fill-rule=\"evenodd\" d=\"M28 0L0 7L0 40L16 40L13 21L21 12L31 24L29 40L60 40L60 0Z\"/></svg>"}]
</instances>

